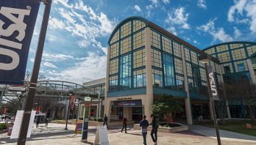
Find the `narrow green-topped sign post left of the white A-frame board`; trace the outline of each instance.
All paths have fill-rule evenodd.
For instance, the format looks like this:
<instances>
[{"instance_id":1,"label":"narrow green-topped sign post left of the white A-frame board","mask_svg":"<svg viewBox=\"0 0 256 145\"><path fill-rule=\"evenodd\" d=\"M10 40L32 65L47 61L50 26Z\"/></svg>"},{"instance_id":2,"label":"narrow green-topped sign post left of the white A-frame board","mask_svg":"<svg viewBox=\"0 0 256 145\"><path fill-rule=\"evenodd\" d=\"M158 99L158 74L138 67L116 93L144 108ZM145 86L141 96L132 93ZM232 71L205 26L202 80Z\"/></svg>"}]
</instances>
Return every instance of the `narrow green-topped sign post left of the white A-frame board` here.
<instances>
[{"instance_id":1,"label":"narrow green-topped sign post left of the white A-frame board","mask_svg":"<svg viewBox=\"0 0 256 145\"><path fill-rule=\"evenodd\" d=\"M88 102L88 103L87 103ZM90 119L90 97L85 97L85 109L84 109L84 116L83 116L83 123L82 123L82 142L87 142L88 140L88 126L89 126L89 119Z\"/></svg>"}]
</instances>

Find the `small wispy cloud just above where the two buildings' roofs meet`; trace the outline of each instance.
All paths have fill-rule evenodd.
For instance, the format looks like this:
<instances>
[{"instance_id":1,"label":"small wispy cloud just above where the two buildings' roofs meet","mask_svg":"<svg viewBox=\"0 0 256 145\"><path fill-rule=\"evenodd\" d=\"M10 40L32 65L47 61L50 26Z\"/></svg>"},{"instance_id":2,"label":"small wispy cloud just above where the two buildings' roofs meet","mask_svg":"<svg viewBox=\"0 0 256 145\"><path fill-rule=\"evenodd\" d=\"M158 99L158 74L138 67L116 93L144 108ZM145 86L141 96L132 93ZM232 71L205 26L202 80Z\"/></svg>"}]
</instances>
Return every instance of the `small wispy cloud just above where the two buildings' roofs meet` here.
<instances>
[{"instance_id":1,"label":"small wispy cloud just above where the two buildings' roofs meet","mask_svg":"<svg viewBox=\"0 0 256 145\"><path fill-rule=\"evenodd\" d=\"M230 35L226 34L226 32L224 31L224 29L218 28L216 30L215 28L215 22L216 18L213 20L210 20L208 23L206 23L205 25L199 26L196 29L201 30L201 31L205 31L206 33L209 33L213 36L213 40L220 40L221 42L229 42L232 41L232 37L230 37Z\"/></svg>"}]
</instances>

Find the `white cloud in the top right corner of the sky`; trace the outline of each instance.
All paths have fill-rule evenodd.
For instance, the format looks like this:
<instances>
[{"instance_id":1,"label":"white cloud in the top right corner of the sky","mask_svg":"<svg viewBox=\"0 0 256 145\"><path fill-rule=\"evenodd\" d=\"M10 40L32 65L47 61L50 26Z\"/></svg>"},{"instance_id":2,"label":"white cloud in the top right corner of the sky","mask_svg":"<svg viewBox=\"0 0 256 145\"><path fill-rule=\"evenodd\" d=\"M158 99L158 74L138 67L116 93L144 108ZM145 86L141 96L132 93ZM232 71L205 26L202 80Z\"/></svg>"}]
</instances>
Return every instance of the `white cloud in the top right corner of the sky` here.
<instances>
[{"instance_id":1,"label":"white cloud in the top right corner of the sky","mask_svg":"<svg viewBox=\"0 0 256 145\"><path fill-rule=\"evenodd\" d=\"M230 7L227 20L235 23L249 23L250 30L256 32L256 1L234 0L235 5Z\"/></svg>"}]
</instances>

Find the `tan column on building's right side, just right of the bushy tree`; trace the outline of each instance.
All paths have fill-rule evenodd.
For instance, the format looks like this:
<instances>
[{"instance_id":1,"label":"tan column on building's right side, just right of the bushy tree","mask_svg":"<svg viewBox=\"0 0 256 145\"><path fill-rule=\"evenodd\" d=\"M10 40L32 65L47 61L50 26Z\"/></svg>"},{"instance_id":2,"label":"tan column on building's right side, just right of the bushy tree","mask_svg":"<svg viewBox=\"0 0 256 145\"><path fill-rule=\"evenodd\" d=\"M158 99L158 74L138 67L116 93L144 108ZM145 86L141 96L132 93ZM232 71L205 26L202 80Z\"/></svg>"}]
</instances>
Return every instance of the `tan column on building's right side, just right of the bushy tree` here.
<instances>
[{"instance_id":1,"label":"tan column on building's right side, just right of the bushy tree","mask_svg":"<svg viewBox=\"0 0 256 145\"><path fill-rule=\"evenodd\" d=\"M185 64L185 51L184 51L183 45L181 45L181 54L182 54L182 68L183 68L182 70L184 75L185 92L187 92L187 97L185 98L187 124L193 124L192 113L191 113L191 99L189 97L189 90L188 90L188 75L187 75L187 69Z\"/></svg>"}]
</instances>

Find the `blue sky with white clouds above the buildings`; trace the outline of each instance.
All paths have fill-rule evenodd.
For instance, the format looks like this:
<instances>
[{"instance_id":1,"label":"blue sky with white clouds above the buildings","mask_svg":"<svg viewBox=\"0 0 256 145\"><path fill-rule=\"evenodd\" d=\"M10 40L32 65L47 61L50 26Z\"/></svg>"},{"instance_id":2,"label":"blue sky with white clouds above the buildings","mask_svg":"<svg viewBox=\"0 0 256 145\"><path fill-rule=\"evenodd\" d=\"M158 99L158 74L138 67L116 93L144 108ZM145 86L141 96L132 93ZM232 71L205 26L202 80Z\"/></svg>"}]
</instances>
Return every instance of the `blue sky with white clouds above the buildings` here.
<instances>
[{"instance_id":1,"label":"blue sky with white clouds above the buildings","mask_svg":"<svg viewBox=\"0 0 256 145\"><path fill-rule=\"evenodd\" d=\"M40 4L29 72L43 9ZM53 0L40 74L79 84L104 78L107 41L115 26L130 16L146 18L199 49L256 40L256 0Z\"/></svg>"}]
</instances>

